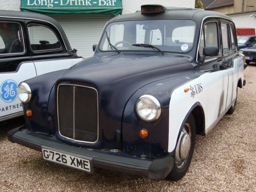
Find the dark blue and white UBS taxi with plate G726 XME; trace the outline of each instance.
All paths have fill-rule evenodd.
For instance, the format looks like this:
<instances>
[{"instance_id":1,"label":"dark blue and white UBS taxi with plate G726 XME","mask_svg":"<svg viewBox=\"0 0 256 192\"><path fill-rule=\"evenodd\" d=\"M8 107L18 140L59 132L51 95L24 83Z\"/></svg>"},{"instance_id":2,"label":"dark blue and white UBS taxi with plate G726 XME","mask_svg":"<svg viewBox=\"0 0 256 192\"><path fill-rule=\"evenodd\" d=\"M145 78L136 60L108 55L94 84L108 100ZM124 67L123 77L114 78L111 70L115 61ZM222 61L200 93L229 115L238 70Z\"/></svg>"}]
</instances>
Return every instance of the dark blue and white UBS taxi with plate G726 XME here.
<instances>
[{"instance_id":1,"label":"dark blue and white UBS taxi with plate G726 XME","mask_svg":"<svg viewBox=\"0 0 256 192\"><path fill-rule=\"evenodd\" d=\"M111 19L94 56L18 86L26 126L8 139L44 160L179 180L196 134L236 108L245 85L232 20L144 5Z\"/></svg>"}]
</instances>

